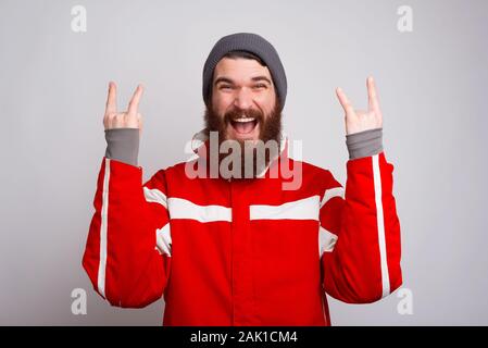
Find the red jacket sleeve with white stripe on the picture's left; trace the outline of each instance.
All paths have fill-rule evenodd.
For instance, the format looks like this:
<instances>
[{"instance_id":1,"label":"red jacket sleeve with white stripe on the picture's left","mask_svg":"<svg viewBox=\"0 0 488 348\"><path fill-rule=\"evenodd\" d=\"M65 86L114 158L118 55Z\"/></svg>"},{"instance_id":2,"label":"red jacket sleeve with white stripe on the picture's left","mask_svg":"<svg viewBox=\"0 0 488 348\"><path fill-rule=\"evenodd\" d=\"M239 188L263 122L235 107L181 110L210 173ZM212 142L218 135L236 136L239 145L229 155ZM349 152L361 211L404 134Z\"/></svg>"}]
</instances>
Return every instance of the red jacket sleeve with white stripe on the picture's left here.
<instances>
[{"instance_id":1,"label":"red jacket sleeve with white stripe on the picture's left","mask_svg":"<svg viewBox=\"0 0 488 348\"><path fill-rule=\"evenodd\" d=\"M83 266L112 306L141 308L162 297L171 271L164 171L103 158Z\"/></svg>"}]
</instances>

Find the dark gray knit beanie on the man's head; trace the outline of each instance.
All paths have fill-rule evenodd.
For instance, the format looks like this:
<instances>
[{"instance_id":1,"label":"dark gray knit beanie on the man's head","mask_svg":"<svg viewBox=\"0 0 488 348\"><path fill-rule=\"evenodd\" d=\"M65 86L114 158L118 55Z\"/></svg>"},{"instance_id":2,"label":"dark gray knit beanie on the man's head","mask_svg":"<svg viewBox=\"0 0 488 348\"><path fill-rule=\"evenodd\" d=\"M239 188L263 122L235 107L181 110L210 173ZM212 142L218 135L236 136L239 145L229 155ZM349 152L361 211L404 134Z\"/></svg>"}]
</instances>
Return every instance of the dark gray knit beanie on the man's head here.
<instances>
[{"instance_id":1,"label":"dark gray knit beanie on the man's head","mask_svg":"<svg viewBox=\"0 0 488 348\"><path fill-rule=\"evenodd\" d=\"M278 52L263 37L250 33L237 33L221 38L203 65L203 101L210 105L212 95L213 71L218 61L230 51L247 51L261 58L270 69L281 109L285 107L287 83L285 69Z\"/></svg>"}]
</instances>

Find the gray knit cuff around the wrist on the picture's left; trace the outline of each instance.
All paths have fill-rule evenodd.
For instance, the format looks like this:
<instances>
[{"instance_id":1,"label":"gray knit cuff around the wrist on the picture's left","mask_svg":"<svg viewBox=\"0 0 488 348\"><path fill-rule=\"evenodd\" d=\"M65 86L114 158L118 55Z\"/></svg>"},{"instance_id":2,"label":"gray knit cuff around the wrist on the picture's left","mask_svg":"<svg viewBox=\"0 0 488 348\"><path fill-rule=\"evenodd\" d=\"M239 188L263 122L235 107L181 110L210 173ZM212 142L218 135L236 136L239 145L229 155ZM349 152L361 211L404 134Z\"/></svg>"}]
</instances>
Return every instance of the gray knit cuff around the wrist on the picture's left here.
<instances>
[{"instance_id":1,"label":"gray knit cuff around the wrist on the picture's left","mask_svg":"<svg viewBox=\"0 0 488 348\"><path fill-rule=\"evenodd\" d=\"M121 161L137 166L139 154L138 128L112 128L105 129L108 159Z\"/></svg>"}]
</instances>

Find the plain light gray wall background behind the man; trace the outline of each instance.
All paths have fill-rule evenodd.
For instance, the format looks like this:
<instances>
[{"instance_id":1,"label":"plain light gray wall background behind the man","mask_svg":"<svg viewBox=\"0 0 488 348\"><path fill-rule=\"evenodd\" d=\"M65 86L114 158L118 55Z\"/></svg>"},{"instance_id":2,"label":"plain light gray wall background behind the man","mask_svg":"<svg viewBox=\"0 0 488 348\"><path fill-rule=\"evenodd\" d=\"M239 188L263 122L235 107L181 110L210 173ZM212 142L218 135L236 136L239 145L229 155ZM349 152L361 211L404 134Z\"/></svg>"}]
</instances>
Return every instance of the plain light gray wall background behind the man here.
<instances>
[{"instance_id":1,"label":"plain light gray wall background behind the man","mask_svg":"<svg viewBox=\"0 0 488 348\"><path fill-rule=\"evenodd\" d=\"M71 8L87 9L87 33ZM413 32L397 29L400 5ZM118 107L137 83L149 178L187 159L202 126L201 70L214 42L254 32L278 50L285 130L306 161L345 183L343 113L334 88L366 107L376 77L395 165L403 287L367 306L330 301L336 325L488 324L486 1L0 1L0 324L159 325L163 301L111 308L80 262L105 142L110 79ZM73 315L71 291L88 294Z\"/></svg>"}]
</instances>

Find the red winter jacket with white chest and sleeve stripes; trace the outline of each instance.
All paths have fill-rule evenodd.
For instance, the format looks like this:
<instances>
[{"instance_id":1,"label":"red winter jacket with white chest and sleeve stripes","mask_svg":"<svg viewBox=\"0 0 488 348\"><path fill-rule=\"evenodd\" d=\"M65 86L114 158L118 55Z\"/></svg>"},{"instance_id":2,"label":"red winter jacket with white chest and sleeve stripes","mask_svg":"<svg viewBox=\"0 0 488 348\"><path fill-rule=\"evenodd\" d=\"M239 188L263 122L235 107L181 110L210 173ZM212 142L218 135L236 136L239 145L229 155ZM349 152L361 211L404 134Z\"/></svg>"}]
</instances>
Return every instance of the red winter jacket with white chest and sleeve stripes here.
<instances>
[{"instance_id":1,"label":"red winter jacket with white chest and sleeve stripes","mask_svg":"<svg viewBox=\"0 0 488 348\"><path fill-rule=\"evenodd\" d=\"M287 147L286 147L287 149ZM163 325L330 325L326 294L381 299L402 283L393 165L385 152L333 174L283 151L264 177L189 178L103 158L83 265L112 306L164 296ZM271 169L301 165L301 187Z\"/></svg>"}]
</instances>

